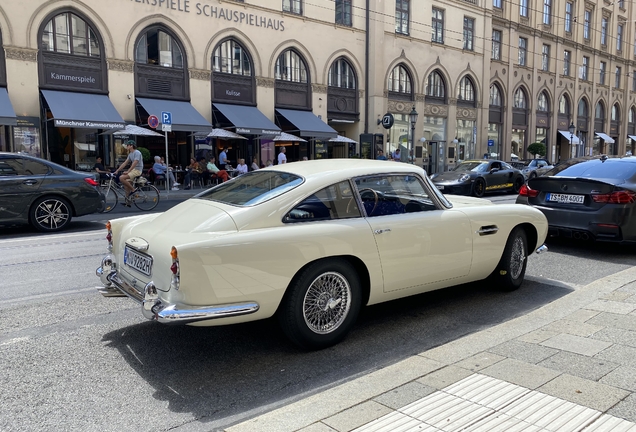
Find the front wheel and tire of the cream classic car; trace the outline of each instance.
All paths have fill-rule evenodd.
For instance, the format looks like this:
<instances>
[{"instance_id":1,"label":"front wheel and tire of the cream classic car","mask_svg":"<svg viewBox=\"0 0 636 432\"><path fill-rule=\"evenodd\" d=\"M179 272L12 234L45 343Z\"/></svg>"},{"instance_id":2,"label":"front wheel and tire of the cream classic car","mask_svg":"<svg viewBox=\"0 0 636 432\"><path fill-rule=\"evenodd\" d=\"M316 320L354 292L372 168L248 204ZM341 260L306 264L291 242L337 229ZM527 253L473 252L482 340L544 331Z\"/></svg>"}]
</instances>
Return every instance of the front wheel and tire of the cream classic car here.
<instances>
[{"instance_id":1,"label":"front wheel and tire of the cream classic car","mask_svg":"<svg viewBox=\"0 0 636 432\"><path fill-rule=\"evenodd\" d=\"M528 238L526 232L517 227L512 230L501 260L491 275L502 291L514 291L521 286L528 264Z\"/></svg>"}]
</instances>

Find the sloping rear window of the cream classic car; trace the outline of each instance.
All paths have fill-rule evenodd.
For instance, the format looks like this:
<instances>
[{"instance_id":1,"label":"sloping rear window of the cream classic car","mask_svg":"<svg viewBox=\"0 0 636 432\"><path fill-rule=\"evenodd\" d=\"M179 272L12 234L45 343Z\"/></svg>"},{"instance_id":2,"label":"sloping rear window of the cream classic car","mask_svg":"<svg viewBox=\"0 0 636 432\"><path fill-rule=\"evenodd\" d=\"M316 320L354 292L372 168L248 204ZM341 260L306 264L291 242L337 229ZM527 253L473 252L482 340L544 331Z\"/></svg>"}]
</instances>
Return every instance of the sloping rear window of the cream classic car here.
<instances>
[{"instance_id":1,"label":"sloping rear window of the cream classic car","mask_svg":"<svg viewBox=\"0 0 636 432\"><path fill-rule=\"evenodd\" d=\"M288 192L302 177L278 171L254 171L197 195L197 198L233 205L255 205Z\"/></svg>"}]
</instances>

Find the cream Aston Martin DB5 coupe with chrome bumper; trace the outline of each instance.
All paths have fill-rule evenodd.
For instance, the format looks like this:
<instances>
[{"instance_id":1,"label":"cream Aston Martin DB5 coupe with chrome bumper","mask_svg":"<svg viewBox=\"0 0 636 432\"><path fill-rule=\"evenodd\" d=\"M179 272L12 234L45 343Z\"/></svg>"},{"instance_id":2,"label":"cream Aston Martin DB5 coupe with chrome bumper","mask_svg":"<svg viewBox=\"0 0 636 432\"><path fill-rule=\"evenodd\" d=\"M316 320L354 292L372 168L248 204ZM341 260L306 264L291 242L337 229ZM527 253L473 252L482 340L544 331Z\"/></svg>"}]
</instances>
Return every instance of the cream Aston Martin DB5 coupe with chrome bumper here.
<instances>
[{"instance_id":1,"label":"cream Aston Martin DB5 coupe with chrome bumper","mask_svg":"<svg viewBox=\"0 0 636 432\"><path fill-rule=\"evenodd\" d=\"M415 165L330 159L250 172L107 229L105 296L126 294L164 324L276 315L294 343L319 349L363 305L486 278L518 288L548 225L532 207L446 197Z\"/></svg>"}]
</instances>

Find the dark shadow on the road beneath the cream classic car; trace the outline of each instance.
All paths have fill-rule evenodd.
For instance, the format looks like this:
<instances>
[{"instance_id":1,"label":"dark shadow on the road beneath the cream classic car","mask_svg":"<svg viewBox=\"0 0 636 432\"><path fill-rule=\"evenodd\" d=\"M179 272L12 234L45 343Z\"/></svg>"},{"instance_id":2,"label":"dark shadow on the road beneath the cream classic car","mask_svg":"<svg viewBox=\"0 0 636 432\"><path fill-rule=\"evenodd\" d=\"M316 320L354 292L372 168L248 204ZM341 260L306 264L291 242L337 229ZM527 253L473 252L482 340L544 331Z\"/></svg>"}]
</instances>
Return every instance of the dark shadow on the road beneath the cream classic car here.
<instances>
[{"instance_id":1,"label":"dark shadow on the road beneath the cream classic car","mask_svg":"<svg viewBox=\"0 0 636 432\"><path fill-rule=\"evenodd\" d=\"M223 327L146 322L110 332L103 340L170 410L191 413L217 428L245 420L249 410L271 408L393 364L569 292L526 281L515 292L501 293L482 282L371 306L344 342L315 352L291 345L275 319Z\"/></svg>"}]
</instances>

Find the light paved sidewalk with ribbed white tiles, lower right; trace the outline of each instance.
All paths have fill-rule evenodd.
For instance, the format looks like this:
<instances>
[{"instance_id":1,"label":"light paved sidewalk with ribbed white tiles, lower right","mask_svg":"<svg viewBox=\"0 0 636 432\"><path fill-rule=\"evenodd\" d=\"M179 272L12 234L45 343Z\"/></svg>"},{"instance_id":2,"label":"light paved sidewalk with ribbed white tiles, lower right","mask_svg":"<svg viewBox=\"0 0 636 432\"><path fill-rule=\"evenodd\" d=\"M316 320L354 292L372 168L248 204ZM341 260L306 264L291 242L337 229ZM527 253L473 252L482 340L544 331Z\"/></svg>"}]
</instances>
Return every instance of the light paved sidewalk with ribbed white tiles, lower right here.
<instances>
[{"instance_id":1,"label":"light paved sidewalk with ribbed white tiles, lower right","mask_svg":"<svg viewBox=\"0 0 636 432\"><path fill-rule=\"evenodd\" d=\"M226 432L636 432L636 267Z\"/></svg>"}]
</instances>

